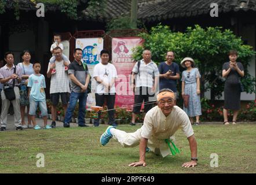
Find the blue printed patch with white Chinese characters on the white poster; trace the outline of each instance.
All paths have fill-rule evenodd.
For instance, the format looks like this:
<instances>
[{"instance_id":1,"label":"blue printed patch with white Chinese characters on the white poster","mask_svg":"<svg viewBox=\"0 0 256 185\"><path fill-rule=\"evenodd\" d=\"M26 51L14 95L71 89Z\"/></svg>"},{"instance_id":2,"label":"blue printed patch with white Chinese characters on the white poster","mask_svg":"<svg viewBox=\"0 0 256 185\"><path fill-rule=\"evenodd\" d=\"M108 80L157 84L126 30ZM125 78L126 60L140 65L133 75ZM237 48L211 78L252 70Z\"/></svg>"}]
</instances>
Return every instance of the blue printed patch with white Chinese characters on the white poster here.
<instances>
[{"instance_id":1,"label":"blue printed patch with white Chinese characters on the white poster","mask_svg":"<svg viewBox=\"0 0 256 185\"><path fill-rule=\"evenodd\" d=\"M83 49L83 61L89 65L96 65L99 63L96 43L94 43L93 46L86 46Z\"/></svg>"}]
</instances>

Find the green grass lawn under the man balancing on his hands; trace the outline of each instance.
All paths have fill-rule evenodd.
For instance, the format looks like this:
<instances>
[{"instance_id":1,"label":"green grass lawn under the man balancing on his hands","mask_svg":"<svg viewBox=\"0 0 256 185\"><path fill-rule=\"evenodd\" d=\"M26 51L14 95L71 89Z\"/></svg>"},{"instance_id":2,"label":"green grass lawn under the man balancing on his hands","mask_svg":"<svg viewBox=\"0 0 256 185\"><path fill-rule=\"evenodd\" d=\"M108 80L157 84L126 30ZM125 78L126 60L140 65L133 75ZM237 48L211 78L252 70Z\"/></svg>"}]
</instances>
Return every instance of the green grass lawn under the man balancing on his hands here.
<instances>
[{"instance_id":1,"label":"green grass lawn under the man balancing on his hands","mask_svg":"<svg viewBox=\"0 0 256 185\"><path fill-rule=\"evenodd\" d=\"M181 154L162 158L147 153L146 167L129 167L138 160L138 146L123 148L115 139L101 146L107 127L56 128L0 132L0 173L256 173L256 125L195 126L199 164L183 168L191 158L188 140L175 134ZM127 132L138 126L120 125ZM45 168L36 167L36 155L45 155ZM211 153L218 154L218 168L210 167Z\"/></svg>"}]
</instances>

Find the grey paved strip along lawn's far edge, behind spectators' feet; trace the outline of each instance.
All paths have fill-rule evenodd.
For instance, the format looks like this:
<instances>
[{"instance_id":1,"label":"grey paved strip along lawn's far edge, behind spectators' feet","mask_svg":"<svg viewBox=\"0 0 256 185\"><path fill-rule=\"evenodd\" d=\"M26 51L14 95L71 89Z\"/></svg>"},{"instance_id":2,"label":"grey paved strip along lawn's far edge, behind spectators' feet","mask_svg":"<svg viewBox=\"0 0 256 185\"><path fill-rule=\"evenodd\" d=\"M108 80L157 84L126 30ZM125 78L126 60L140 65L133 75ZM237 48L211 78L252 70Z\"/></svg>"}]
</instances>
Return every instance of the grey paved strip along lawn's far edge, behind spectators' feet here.
<instances>
[{"instance_id":1,"label":"grey paved strip along lawn's far edge, behind spectators' feet","mask_svg":"<svg viewBox=\"0 0 256 185\"><path fill-rule=\"evenodd\" d=\"M27 117L25 117L25 123L27 123ZM43 119L36 118L36 123L38 125L40 125L41 127L43 127ZM50 125L52 123L52 120L47 120L47 123ZM202 122L200 124L218 124L218 125L221 125L223 123L222 122ZM237 122L237 124L256 124L256 122L247 122L247 123ZM93 126L93 124L87 124L87 125L89 125L90 127ZM107 125L107 124L103 124L103 125ZM138 125L142 125L142 123L138 123ZM63 122L56 121L56 127L63 127ZM70 123L70 127L78 127L78 124ZM14 126L14 116L8 115L8 123L7 123L6 131L14 131L15 129L16 129L16 127ZM30 128L27 128L27 129L30 129Z\"/></svg>"}]
</instances>

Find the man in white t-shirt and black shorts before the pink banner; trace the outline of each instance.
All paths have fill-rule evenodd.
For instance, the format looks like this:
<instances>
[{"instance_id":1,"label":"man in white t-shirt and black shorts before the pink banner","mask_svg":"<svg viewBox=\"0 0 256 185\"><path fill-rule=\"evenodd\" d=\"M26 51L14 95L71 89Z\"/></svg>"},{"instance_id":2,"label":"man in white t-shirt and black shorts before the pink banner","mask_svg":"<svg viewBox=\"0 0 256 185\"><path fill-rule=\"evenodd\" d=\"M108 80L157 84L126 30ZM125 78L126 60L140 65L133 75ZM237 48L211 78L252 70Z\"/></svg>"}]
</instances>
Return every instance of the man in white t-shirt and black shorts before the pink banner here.
<instances>
[{"instance_id":1,"label":"man in white t-shirt and black shorts before the pink banner","mask_svg":"<svg viewBox=\"0 0 256 185\"><path fill-rule=\"evenodd\" d=\"M100 53L101 63L97 64L93 70L93 77L96 80L96 106L103 106L105 99L107 100L108 109L114 109L115 106L115 79L118 77L116 68L109 63L109 53L107 50L102 50ZM98 119L94 120L94 126L98 127L100 120L100 112ZM109 125L115 124L115 111L109 110Z\"/></svg>"}]
</instances>

